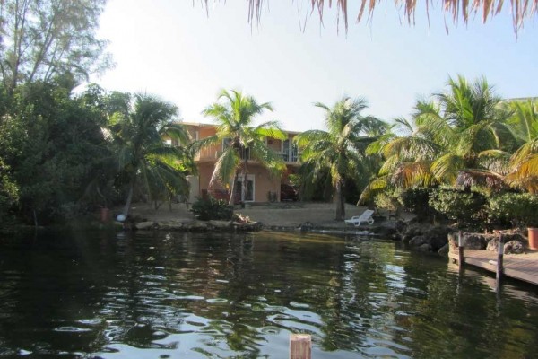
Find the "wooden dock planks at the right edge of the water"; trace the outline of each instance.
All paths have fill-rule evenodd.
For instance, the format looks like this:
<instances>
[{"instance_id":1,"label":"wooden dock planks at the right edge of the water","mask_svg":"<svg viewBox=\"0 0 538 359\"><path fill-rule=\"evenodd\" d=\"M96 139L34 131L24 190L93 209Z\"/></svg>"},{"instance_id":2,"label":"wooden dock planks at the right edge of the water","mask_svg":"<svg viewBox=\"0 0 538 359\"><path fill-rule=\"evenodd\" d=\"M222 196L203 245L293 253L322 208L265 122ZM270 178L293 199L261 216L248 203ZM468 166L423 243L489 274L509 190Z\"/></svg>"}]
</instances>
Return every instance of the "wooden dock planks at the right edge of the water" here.
<instances>
[{"instance_id":1,"label":"wooden dock planks at the right edge of the water","mask_svg":"<svg viewBox=\"0 0 538 359\"><path fill-rule=\"evenodd\" d=\"M448 257L458 261L458 253L450 252ZM464 264L481 267L490 272L497 271L497 252L490 250L464 250ZM538 285L538 251L525 254L505 254L503 258L503 275L533 285Z\"/></svg>"}]
</instances>

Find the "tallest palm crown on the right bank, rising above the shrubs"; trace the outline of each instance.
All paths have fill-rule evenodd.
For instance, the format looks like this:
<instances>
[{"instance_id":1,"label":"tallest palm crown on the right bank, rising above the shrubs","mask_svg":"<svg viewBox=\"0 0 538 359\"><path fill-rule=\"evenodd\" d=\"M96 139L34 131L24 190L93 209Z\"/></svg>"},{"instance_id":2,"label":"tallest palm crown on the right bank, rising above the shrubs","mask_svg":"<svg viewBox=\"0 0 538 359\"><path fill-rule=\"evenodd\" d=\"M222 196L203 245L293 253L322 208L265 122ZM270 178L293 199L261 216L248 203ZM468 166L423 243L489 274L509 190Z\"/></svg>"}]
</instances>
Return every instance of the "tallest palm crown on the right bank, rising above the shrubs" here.
<instances>
[{"instance_id":1,"label":"tallest palm crown on the right bank, rising above the shrubs","mask_svg":"<svg viewBox=\"0 0 538 359\"><path fill-rule=\"evenodd\" d=\"M483 78L471 84L458 76L447 85L447 92L434 95L437 101L419 101L414 114L418 133L438 144L433 177L453 184L460 174L488 179L506 173L516 138L501 99Z\"/></svg>"}]
</instances>

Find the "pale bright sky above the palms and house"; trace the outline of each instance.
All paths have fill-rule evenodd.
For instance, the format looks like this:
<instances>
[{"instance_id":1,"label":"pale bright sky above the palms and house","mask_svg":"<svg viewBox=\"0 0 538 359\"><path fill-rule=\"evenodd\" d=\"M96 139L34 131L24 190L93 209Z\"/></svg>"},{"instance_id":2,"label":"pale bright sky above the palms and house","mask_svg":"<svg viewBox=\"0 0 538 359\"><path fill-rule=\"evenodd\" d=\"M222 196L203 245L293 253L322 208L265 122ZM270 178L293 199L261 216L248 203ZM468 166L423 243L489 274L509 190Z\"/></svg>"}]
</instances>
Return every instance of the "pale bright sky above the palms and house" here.
<instances>
[{"instance_id":1,"label":"pale bright sky above the palms and house","mask_svg":"<svg viewBox=\"0 0 538 359\"><path fill-rule=\"evenodd\" d=\"M156 95L202 123L213 122L201 112L221 89L240 90L273 105L256 123L277 120L290 131L325 129L314 103L331 107L343 96L366 99L364 115L409 118L417 99L458 74L485 76L503 98L538 96L538 16L516 37L508 2L486 24L477 15L467 25L438 9L429 25L419 8L410 26L390 1L357 24L351 7L347 33L334 8L321 24L307 3L265 0L251 25L245 0L209 1L209 9L199 0L108 0L98 37L109 40L116 66L91 82Z\"/></svg>"}]
</instances>

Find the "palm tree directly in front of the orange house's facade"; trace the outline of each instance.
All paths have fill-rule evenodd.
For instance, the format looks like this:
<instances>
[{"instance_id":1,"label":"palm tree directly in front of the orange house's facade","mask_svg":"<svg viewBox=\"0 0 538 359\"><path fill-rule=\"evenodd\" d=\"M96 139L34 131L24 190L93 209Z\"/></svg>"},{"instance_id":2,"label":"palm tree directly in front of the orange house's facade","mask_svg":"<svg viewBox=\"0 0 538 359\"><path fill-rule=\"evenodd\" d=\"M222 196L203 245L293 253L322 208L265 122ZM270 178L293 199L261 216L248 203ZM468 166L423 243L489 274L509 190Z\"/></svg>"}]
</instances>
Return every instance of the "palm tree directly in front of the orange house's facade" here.
<instances>
[{"instance_id":1,"label":"palm tree directly in front of the orange house's facade","mask_svg":"<svg viewBox=\"0 0 538 359\"><path fill-rule=\"evenodd\" d=\"M222 90L217 102L202 111L204 116L214 119L217 132L214 136L197 141L193 148L197 151L213 144L224 144L224 149L215 163L210 186L216 182L228 184L231 181L230 205L233 204L234 187L241 172L244 175L241 192L243 198L246 197L249 160L259 162L272 175L278 175L285 169L279 154L265 144L267 137L282 140L286 138L278 123L267 121L253 126L254 118L265 109L272 111L273 107L268 102L258 103L254 97L242 92Z\"/></svg>"}]
</instances>

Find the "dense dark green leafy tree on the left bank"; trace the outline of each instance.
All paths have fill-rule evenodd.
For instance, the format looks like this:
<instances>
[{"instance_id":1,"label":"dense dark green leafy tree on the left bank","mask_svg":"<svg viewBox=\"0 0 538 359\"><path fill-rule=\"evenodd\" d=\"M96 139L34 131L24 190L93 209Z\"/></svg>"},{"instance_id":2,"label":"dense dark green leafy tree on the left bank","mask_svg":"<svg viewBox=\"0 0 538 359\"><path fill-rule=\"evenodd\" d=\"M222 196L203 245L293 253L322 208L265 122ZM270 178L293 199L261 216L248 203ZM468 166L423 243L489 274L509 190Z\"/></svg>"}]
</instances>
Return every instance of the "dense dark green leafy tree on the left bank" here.
<instances>
[{"instance_id":1,"label":"dense dark green leafy tree on the left bank","mask_svg":"<svg viewBox=\"0 0 538 359\"><path fill-rule=\"evenodd\" d=\"M107 154L103 118L55 83L14 89L0 124L0 158L19 188L21 215L48 223L89 210L81 200Z\"/></svg>"}]
</instances>

